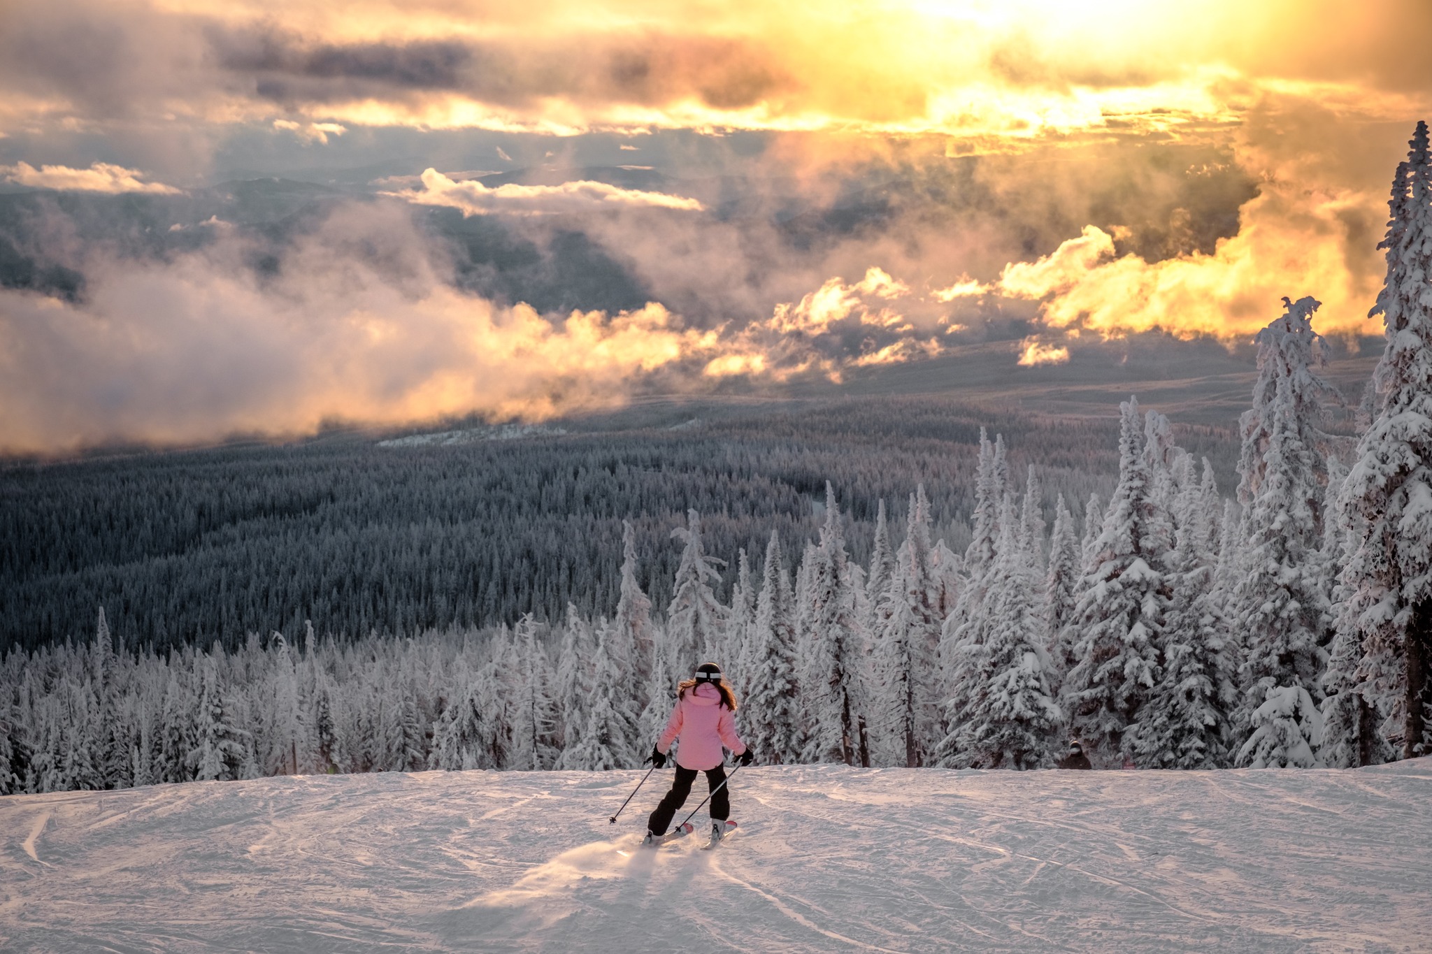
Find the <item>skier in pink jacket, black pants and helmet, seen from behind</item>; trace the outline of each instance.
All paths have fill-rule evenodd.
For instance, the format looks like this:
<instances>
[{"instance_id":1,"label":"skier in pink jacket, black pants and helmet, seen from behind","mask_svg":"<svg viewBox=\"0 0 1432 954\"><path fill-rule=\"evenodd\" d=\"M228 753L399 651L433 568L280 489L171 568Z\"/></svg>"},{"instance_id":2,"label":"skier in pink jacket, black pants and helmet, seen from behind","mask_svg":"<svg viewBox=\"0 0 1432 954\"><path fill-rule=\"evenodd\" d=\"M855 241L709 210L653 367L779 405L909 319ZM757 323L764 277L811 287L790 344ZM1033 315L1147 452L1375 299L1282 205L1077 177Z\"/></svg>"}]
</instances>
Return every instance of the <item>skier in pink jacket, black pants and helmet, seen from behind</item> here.
<instances>
[{"instance_id":1,"label":"skier in pink jacket, black pants and helmet, seen from behind","mask_svg":"<svg viewBox=\"0 0 1432 954\"><path fill-rule=\"evenodd\" d=\"M736 735L736 695L722 679L720 667L715 662L696 667L696 675L679 687L676 708L666 721L666 731L652 747L652 762L657 768L666 765L666 752L677 738L682 745L676 754L672 791L666 792L662 804L647 820L646 838L642 844L654 845L666 834L672 815L692 794L696 772L706 772L706 785L712 792L712 844L716 844L725 835L726 820L730 817L730 788L723 785L726 769L722 765L725 761L722 745L725 744L742 765L750 765L755 755Z\"/></svg>"}]
</instances>

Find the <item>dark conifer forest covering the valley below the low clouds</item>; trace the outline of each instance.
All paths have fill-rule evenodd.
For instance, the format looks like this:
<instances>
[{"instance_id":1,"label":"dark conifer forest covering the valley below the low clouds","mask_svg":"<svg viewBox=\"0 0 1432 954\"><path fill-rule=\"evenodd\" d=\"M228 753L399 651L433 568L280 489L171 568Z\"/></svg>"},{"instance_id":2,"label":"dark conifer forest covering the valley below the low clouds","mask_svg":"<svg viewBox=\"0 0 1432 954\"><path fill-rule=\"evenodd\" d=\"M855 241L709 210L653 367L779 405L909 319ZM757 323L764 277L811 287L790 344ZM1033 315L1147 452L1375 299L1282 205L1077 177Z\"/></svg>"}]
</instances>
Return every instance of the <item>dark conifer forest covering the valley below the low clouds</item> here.
<instances>
[{"instance_id":1,"label":"dark conifer forest covering the valley below the low clouds","mask_svg":"<svg viewBox=\"0 0 1432 954\"><path fill-rule=\"evenodd\" d=\"M878 502L904 519L916 483L937 536L968 542L972 449L1000 431L1011 465L1037 463L1053 519L1107 496L1117 419L1047 419L941 398L779 405L680 429L382 446L331 435L291 446L113 456L0 471L0 639L34 648L92 635L105 606L126 641L168 648L245 634L335 636L556 621L616 606L621 521L642 584L670 599L670 531L703 515L710 552L788 561L818 525L825 482L848 501L866 559ZM1232 473L1232 428L1180 441ZM481 429L478 431L481 433ZM725 569L729 585L735 565Z\"/></svg>"}]
</instances>

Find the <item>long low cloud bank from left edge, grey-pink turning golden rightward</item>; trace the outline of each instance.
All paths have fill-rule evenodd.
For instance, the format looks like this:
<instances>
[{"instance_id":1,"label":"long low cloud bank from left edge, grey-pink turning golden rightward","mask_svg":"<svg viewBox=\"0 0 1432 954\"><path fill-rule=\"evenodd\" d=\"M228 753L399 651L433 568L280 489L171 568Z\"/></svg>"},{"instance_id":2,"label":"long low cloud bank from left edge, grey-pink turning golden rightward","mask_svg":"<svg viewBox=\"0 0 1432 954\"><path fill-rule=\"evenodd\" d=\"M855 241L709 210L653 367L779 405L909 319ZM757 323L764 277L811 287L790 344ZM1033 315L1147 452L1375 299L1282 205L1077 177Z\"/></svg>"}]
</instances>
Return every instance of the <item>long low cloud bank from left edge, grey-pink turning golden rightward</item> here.
<instances>
[{"instance_id":1,"label":"long low cloud bank from left edge, grey-pink turning golden rightward","mask_svg":"<svg viewBox=\"0 0 1432 954\"><path fill-rule=\"evenodd\" d=\"M654 302L541 315L465 295L398 203L339 205L262 270L248 265L269 255L253 237L211 233L168 260L92 252L82 302L0 290L0 451L299 435L335 418L540 421L647 385L839 380L941 350L896 320L892 303L916 296L878 267L768 319L702 329Z\"/></svg>"}]
</instances>

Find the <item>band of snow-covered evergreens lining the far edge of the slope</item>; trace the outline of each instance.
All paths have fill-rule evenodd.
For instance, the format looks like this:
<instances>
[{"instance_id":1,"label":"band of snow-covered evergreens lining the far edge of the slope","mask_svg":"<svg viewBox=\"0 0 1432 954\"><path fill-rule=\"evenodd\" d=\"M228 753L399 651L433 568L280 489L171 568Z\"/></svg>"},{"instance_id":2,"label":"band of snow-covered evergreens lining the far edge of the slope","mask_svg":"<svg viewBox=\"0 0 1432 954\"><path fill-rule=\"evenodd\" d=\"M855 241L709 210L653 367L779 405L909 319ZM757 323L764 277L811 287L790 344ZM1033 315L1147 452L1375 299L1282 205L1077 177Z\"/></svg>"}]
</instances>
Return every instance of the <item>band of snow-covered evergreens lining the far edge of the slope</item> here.
<instances>
[{"instance_id":1,"label":"band of snow-covered evergreens lining the far edge of the slope","mask_svg":"<svg viewBox=\"0 0 1432 954\"><path fill-rule=\"evenodd\" d=\"M0 792L630 768L676 682L706 659L729 672L740 731L766 764L1044 768L1070 737L1097 767L1352 767L1425 754L1425 124L1389 205L1388 279L1373 309L1386 348L1359 436L1323 426L1342 396L1319 373L1319 303L1285 299L1257 335L1233 496L1210 461L1131 398L1107 448L1117 475L1087 475L1095 489L1084 499L1055 491L1053 508L1050 472L1014 466L1004 436L982 432L965 508L951 506L964 499L958 479L928 473L905 488L902 521L876 505L858 548L851 532L865 522L842 499L856 483L849 471L825 483L821 523L805 539L802 521L766 516L795 498L742 515L748 531L766 516L765 541L735 548L693 506L672 531L674 566L657 599L640 582L657 574L643 571L627 522L591 555L616 568L610 612L570 605L561 616L528 611L514 625L400 636L255 632L203 648L116 641L102 611L93 639L16 648L0 664ZM909 472L859 466L862 498L875 483L894 499L886 475ZM762 478L753 468L749 479ZM1074 485L1060 472L1061 488ZM412 533L421 545L422 528ZM574 544L577 558L586 545Z\"/></svg>"}]
</instances>

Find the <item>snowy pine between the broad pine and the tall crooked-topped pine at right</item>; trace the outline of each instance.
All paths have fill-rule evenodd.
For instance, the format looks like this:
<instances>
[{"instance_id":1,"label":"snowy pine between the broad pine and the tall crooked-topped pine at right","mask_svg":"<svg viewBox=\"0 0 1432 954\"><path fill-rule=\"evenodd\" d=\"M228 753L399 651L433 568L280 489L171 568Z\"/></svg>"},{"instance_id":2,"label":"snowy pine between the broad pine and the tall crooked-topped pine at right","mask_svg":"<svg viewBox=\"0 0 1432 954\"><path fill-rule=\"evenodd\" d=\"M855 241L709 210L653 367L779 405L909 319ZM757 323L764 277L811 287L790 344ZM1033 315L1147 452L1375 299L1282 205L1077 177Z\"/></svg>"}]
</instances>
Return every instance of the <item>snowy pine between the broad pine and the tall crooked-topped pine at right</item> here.
<instances>
[{"instance_id":1,"label":"snowy pine between the broad pine and the tall crooked-topped pine at right","mask_svg":"<svg viewBox=\"0 0 1432 954\"><path fill-rule=\"evenodd\" d=\"M1201 554L1204 488L1187 455L1176 463L1177 536L1167 558L1171 585L1161 634L1161 678L1130 727L1130 745L1147 768L1224 768L1232 741L1229 711L1237 701L1227 652L1229 624L1213 591L1213 566Z\"/></svg>"}]
</instances>

